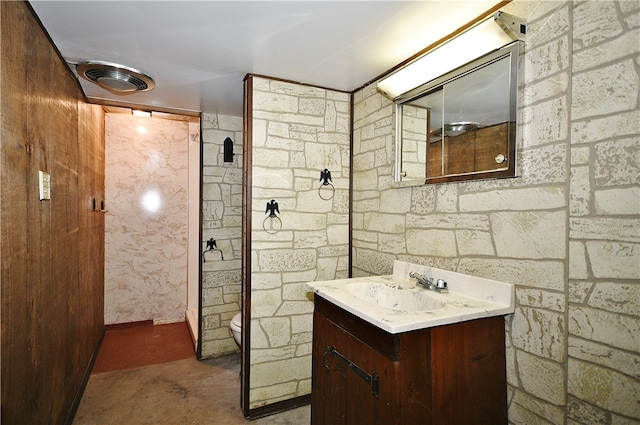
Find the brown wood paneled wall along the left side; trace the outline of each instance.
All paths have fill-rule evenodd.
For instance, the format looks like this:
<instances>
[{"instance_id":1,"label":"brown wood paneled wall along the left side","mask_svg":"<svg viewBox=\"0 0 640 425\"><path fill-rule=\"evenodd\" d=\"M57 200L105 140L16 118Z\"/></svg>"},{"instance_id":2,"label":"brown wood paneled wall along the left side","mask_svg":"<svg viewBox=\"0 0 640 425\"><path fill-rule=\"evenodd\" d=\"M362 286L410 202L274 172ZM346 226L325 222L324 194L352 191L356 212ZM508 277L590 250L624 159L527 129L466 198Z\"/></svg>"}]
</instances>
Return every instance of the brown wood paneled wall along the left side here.
<instances>
[{"instance_id":1,"label":"brown wood paneled wall along the left side","mask_svg":"<svg viewBox=\"0 0 640 425\"><path fill-rule=\"evenodd\" d=\"M28 3L0 2L0 54L1 420L70 423L104 332L104 113Z\"/></svg>"}]
</instances>

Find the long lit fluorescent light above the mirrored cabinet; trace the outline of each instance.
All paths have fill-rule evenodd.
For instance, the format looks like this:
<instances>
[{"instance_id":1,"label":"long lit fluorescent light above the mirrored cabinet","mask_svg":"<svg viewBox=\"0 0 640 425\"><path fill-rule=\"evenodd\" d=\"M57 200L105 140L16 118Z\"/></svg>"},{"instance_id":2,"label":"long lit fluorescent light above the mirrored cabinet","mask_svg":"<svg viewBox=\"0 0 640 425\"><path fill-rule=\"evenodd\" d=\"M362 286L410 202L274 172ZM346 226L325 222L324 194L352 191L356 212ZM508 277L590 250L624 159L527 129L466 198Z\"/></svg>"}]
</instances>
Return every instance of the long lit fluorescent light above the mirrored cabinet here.
<instances>
[{"instance_id":1,"label":"long lit fluorescent light above the mirrored cabinet","mask_svg":"<svg viewBox=\"0 0 640 425\"><path fill-rule=\"evenodd\" d=\"M514 38L507 34L496 21L497 19L503 19L505 15L497 12L494 16L430 50L425 55L380 80L378 82L378 90L388 98L395 99L422 84L511 43ZM510 18L517 19L511 16Z\"/></svg>"}]
</instances>

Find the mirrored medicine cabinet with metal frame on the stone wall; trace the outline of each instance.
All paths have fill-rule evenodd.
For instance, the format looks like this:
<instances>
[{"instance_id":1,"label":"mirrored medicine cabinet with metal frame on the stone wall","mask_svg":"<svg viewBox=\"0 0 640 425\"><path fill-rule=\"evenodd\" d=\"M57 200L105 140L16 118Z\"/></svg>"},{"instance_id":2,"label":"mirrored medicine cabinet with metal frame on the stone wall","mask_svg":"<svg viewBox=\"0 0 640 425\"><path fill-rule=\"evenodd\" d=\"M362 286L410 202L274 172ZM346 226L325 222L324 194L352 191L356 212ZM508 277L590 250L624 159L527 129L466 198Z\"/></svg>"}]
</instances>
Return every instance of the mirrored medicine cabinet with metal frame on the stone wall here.
<instances>
[{"instance_id":1,"label":"mirrored medicine cabinet with metal frame on the stone wall","mask_svg":"<svg viewBox=\"0 0 640 425\"><path fill-rule=\"evenodd\" d=\"M519 43L396 99L397 186L514 177Z\"/></svg>"}]
</instances>

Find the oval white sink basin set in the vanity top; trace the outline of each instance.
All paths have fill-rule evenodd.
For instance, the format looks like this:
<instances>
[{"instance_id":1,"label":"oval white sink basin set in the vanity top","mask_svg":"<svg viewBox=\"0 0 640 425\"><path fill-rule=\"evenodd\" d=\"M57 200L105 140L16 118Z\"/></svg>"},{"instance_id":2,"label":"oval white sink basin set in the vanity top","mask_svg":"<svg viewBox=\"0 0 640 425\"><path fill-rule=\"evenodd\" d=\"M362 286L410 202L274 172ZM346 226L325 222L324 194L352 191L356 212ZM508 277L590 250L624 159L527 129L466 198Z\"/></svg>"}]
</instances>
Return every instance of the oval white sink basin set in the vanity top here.
<instances>
[{"instance_id":1,"label":"oval white sink basin set in the vanity top","mask_svg":"<svg viewBox=\"0 0 640 425\"><path fill-rule=\"evenodd\" d=\"M394 311L437 311L445 303L433 297L425 289L407 288L376 282L354 282L347 285L354 297L379 307Z\"/></svg>"}]
</instances>

